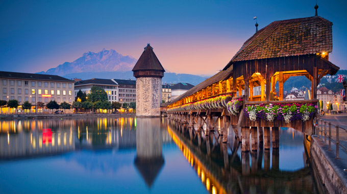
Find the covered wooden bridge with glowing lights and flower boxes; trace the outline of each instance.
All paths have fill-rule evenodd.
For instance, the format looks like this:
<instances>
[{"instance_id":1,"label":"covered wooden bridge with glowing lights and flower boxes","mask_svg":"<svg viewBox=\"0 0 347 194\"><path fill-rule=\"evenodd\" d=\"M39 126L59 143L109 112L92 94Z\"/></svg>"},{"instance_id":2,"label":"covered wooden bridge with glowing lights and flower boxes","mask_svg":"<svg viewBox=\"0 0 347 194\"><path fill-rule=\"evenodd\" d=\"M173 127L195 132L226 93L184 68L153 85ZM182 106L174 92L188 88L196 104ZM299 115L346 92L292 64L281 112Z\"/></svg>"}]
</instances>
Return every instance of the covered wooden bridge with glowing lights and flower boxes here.
<instances>
[{"instance_id":1,"label":"covered wooden bridge with glowing lights and flower boxes","mask_svg":"<svg viewBox=\"0 0 347 194\"><path fill-rule=\"evenodd\" d=\"M313 133L317 85L323 76L334 75L339 69L329 61L331 52L332 22L327 19L314 16L274 21L245 41L224 69L172 101L168 117L195 130L217 130L224 135L224 142L231 125L242 141L242 151L250 150L250 133L252 150L258 148L258 135L269 149L272 128L272 148L278 148L279 127ZM283 101L283 84L293 76L311 81L309 99ZM257 88L260 95L255 95ZM234 112L222 102L232 99L231 107L239 108ZM236 100L241 107L234 106ZM292 105L296 109L290 108ZM271 112L274 106L281 111Z\"/></svg>"}]
</instances>

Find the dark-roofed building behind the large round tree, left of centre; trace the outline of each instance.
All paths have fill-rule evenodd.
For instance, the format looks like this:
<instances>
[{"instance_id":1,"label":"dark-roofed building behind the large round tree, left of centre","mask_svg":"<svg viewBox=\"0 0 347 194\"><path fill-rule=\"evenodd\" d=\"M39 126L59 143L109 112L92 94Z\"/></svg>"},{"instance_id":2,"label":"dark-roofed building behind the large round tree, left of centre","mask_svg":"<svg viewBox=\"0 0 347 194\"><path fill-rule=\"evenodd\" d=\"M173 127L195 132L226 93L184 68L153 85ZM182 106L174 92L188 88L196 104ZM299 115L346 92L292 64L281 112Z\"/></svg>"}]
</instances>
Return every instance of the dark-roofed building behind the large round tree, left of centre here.
<instances>
[{"instance_id":1,"label":"dark-roofed building behind the large round tree, left of centre","mask_svg":"<svg viewBox=\"0 0 347 194\"><path fill-rule=\"evenodd\" d=\"M112 102L118 102L118 83L113 79L90 79L90 80L81 80L75 83L75 98L77 92L81 90L87 95L90 93L91 87L96 86L103 88L107 93L108 100Z\"/></svg>"}]
</instances>

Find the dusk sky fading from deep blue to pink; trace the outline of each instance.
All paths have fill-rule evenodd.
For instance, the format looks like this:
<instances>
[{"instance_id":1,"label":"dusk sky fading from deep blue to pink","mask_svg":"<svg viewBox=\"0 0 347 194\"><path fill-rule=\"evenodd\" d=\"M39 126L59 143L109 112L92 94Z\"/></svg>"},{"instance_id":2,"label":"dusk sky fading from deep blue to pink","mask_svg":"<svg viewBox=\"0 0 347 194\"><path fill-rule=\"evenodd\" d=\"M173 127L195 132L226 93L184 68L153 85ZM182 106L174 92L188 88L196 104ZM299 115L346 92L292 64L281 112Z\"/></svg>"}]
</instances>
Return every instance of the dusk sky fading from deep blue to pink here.
<instances>
[{"instance_id":1,"label":"dusk sky fading from deep blue to pink","mask_svg":"<svg viewBox=\"0 0 347 194\"><path fill-rule=\"evenodd\" d=\"M314 16L315 1L1 1L0 70L39 72L86 52L138 59L146 43L170 72L212 75L272 21ZM333 22L329 60L347 69L347 1L318 0Z\"/></svg>"}]
</instances>

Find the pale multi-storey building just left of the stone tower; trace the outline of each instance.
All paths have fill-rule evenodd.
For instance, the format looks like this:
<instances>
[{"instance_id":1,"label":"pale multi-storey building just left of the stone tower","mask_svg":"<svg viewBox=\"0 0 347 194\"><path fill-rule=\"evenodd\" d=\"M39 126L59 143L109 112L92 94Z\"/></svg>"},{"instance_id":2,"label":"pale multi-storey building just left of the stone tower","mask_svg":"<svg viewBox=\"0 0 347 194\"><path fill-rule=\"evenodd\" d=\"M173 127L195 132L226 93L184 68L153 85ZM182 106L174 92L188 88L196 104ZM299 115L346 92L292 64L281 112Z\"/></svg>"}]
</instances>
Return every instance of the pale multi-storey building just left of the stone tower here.
<instances>
[{"instance_id":1,"label":"pale multi-storey building just left of the stone tower","mask_svg":"<svg viewBox=\"0 0 347 194\"><path fill-rule=\"evenodd\" d=\"M136 102L136 81L113 79L118 84L118 99L120 103Z\"/></svg>"}]
</instances>

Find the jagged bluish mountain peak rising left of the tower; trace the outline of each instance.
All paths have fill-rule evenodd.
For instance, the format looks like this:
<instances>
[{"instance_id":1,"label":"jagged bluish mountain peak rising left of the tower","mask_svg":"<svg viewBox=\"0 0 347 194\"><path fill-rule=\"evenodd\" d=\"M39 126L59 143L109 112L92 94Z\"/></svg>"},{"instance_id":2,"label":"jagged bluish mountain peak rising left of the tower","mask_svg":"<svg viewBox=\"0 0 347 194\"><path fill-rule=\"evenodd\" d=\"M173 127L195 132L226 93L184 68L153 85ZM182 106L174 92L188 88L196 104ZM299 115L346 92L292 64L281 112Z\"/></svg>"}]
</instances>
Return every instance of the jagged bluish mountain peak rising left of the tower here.
<instances>
[{"instance_id":1,"label":"jagged bluish mountain peak rising left of the tower","mask_svg":"<svg viewBox=\"0 0 347 194\"><path fill-rule=\"evenodd\" d=\"M105 50L98 52L88 52L83 54L73 62L65 62L56 68L41 71L39 74L50 74L64 76L71 73L79 72L100 72L100 71L129 71L137 59L132 56L122 56L115 50Z\"/></svg>"}]
</instances>

